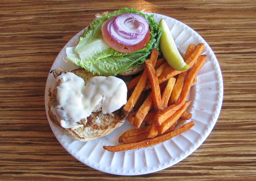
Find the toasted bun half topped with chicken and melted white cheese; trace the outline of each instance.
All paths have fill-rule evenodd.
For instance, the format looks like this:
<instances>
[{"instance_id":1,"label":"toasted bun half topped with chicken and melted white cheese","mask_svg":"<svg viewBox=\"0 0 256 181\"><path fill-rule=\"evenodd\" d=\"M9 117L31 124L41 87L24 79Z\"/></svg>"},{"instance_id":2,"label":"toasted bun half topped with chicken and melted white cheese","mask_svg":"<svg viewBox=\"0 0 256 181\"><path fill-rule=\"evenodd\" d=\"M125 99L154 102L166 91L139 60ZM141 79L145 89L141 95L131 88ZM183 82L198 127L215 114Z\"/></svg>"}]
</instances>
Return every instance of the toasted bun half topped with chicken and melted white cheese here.
<instances>
[{"instance_id":1,"label":"toasted bun half topped with chicken and melted white cheese","mask_svg":"<svg viewBox=\"0 0 256 181\"><path fill-rule=\"evenodd\" d=\"M117 77L94 75L82 68L71 72L52 70L54 90L49 90L50 120L68 136L91 141L121 126L127 113L126 84Z\"/></svg>"}]
</instances>

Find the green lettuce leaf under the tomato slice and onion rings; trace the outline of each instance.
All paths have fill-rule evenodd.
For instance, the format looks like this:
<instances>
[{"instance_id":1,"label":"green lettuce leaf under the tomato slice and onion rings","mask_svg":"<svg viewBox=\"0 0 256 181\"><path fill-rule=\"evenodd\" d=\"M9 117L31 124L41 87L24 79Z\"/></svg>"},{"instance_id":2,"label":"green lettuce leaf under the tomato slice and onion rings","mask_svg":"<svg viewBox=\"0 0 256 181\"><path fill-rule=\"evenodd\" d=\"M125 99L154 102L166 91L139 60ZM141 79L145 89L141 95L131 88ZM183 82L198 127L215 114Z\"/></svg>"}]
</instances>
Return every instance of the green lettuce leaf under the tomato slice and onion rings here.
<instances>
[{"instance_id":1,"label":"green lettuce leaf under the tomato slice and onion rings","mask_svg":"<svg viewBox=\"0 0 256 181\"><path fill-rule=\"evenodd\" d=\"M151 34L149 43L133 53L121 53L112 49L101 34L102 24L109 18L122 13L137 13L144 16L149 23ZM132 65L142 64L149 57L152 49L159 50L161 34L162 29L155 22L153 15L149 16L135 9L123 8L90 23L90 27L81 35L78 45L66 48L67 60L98 75L117 75Z\"/></svg>"}]
</instances>

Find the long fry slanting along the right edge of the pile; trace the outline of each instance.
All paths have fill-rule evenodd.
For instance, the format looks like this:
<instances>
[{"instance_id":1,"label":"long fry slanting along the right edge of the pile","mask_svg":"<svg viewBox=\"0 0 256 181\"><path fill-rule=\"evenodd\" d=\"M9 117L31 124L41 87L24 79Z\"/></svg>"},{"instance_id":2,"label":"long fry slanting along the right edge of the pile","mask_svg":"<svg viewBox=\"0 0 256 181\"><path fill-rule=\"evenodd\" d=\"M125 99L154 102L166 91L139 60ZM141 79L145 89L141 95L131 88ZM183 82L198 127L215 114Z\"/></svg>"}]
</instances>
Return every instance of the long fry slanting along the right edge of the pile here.
<instances>
[{"instance_id":1,"label":"long fry slanting along the right edge of the pile","mask_svg":"<svg viewBox=\"0 0 256 181\"><path fill-rule=\"evenodd\" d=\"M188 72L187 78L182 87L182 91L181 91L180 97L178 98L177 104L182 104L183 102L186 101L186 99L188 97L188 93L190 92L192 83L194 81L194 78L196 77L199 70L203 67L205 62L206 62L206 55L199 56L197 62L194 64L194 66Z\"/></svg>"}]
</instances>

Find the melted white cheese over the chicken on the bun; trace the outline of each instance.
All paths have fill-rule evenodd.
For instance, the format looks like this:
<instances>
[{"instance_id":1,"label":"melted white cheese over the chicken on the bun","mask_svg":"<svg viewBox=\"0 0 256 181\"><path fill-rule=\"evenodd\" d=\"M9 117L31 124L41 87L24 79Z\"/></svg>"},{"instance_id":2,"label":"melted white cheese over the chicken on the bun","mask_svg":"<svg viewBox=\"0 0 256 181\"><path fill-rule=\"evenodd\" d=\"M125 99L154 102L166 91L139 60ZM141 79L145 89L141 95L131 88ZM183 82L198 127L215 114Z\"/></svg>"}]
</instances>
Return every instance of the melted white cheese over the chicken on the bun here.
<instances>
[{"instance_id":1,"label":"melted white cheese over the chicken on the bun","mask_svg":"<svg viewBox=\"0 0 256 181\"><path fill-rule=\"evenodd\" d=\"M127 102L127 87L120 78L96 76L86 85L84 79L74 73L63 73L56 78L56 99L58 105L51 107L63 128L77 128L81 119L90 116L94 108L102 102L102 113L109 114L120 109Z\"/></svg>"}]
</instances>

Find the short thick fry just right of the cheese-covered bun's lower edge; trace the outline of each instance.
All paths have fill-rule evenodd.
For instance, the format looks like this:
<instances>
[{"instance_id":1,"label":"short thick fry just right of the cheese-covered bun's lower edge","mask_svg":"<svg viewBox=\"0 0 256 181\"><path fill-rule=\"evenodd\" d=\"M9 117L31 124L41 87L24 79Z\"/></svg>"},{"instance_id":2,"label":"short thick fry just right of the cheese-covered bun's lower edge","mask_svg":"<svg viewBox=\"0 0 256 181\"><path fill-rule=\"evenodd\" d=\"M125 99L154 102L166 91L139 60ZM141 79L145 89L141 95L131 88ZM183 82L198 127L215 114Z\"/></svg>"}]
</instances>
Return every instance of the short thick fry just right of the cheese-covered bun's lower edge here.
<instances>
[{"instance_id":1,"label":"short thick fry just right of the cheese-covered bun's lower edge","mask_svg":"<svg viewBox=\"0 0 256 181\"><path fill-rule=\"evenodd\" d=\"M148 95L144 103L140 106L138 111L135 113L133 125L135 128L139 128L144 120L145 116L148 114L149 110L153 106L152 93Z\"/></svg>"}]
</instances>

